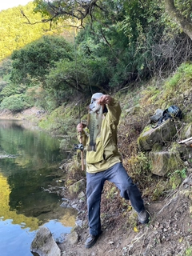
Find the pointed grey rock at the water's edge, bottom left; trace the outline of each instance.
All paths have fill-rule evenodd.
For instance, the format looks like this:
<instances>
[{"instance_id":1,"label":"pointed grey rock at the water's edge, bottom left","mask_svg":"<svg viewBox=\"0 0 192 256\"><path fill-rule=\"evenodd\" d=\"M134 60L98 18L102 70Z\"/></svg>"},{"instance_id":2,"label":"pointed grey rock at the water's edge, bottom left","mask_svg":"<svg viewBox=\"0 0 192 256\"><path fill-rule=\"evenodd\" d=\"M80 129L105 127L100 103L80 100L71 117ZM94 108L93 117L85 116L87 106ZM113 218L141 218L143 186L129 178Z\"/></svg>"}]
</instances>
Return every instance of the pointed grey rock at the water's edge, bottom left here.
<instances>
[{"instance_id":1,"label":"pointed grey rock at the water's edge, bottom left","mask_svg":"<svg viewBox=\"0 0 192 256\"><path fill-rule=\"evenodd\" d=\"M34 255L38 254L39 256L61 256L61 250L46 226L40 227L31 243L30 250Z\"/></svg>"}]
</instances>

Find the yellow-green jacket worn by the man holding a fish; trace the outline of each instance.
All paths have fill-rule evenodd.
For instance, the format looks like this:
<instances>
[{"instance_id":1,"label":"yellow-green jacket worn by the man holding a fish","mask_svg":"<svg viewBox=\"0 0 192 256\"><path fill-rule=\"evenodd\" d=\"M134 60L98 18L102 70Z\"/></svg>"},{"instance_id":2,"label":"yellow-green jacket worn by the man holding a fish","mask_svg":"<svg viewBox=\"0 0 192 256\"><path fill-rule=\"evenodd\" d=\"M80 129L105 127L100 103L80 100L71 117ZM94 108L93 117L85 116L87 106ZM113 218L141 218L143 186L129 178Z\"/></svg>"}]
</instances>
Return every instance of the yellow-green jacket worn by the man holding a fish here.
<instances>
[{"instance_id":1,"label":"yellow-green jacket worn by the man holding a fish","mask_svg":"<svg viewBox=\"0 0 192 256\"><path fill-rule=\"evenodd\" d=\"M108 112L102 120L102 128L96 139L96 152L86 151L86 171L97 173L107 170L117 162L122 162L121 155L118 153L117 128L122 112L119 103L112 98L110 105L106 105ZM80 135L78 134L78 139ZM89 134L82 132L82 144L88 146L90 141Z\"/></svg>"}]
</instances>

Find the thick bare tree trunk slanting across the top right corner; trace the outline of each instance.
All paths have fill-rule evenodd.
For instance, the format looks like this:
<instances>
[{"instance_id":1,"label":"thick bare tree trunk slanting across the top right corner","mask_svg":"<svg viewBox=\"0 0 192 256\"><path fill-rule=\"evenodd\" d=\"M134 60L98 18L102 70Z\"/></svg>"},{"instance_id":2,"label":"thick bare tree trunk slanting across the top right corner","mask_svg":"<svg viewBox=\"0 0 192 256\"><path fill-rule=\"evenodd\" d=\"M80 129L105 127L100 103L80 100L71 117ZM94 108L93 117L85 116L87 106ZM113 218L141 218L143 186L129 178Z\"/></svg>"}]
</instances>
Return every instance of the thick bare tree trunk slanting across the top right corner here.
<instances>
[{"instance_id":1,"label":"thick bare tree trunk slanting across the top right corner","mask_svg":"<svg viewBox=\"0 0 192 256\"><path fill-rule=\"evenodd\" d=\"M174 22L176 22L178 26L181 27L183 32L192 40L192 22L178 12L174 6L174 0L165 0L165 4L166 11L168 14L170 14L170 17L173 18Z\"/></svg>"}]
</instances>

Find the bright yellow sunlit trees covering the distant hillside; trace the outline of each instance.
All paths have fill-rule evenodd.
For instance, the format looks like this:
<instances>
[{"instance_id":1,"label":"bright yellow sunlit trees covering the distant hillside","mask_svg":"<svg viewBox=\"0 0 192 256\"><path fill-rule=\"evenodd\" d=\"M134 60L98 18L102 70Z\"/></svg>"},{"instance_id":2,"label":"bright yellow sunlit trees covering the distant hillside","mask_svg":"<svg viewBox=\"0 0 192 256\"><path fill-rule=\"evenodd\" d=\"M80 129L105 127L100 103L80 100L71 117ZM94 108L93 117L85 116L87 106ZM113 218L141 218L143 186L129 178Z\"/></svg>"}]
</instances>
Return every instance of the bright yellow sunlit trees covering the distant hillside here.
<instances>
[{"instance_id":1,"label":"bright yellow sunlit trees covering the distant hillside","mask_svg":"<svg viewBox=\"0 0 192 256\"><path fill-rule=\"evenodd\" d=\"M26 44L41 38L49 30L49 24L38 22L36 25L26 25L21 10L25 11L31 22L37 22L41 14L33 13L34 5L19 6L0 12L0 60L9 57L13 50L19 50Z\"/></svg>"}]
</instances>

